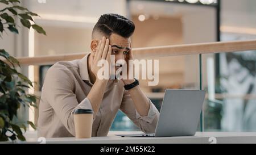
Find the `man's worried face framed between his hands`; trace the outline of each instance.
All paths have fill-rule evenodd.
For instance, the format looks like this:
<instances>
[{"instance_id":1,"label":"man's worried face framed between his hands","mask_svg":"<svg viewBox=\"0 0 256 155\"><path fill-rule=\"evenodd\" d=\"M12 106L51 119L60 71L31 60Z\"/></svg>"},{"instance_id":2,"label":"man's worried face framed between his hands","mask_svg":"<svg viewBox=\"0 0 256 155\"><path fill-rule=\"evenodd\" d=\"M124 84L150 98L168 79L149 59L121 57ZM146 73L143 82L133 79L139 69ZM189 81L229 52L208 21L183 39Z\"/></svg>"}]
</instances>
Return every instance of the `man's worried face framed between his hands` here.
<instances>
[{"instance_id":1,"label":"man's worried face framed between his hands","mask_svg":"<svg viewBox=\"0 0 256 155\"><path fill-rule=\"evenodd\" d=\"M112 46L112 55L115 56L115 62L117 60L129 59L129 52L131 50L131 39L119 36L115 33L110 35L110 45ZM115 68L117 70L118 67Z\"/></svg>"}]
</instances>

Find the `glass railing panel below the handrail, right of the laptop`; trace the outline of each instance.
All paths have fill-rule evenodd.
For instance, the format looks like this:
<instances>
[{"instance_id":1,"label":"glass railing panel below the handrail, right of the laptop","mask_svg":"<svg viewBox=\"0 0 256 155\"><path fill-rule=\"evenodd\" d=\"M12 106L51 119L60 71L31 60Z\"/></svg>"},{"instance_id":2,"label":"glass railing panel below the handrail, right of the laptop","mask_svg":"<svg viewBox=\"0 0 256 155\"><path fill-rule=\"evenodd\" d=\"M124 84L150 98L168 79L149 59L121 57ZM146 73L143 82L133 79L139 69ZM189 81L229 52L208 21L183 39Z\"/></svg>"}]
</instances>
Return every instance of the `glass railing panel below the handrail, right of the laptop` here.
<instances>
[{"instance_id":1,"label":"glass railing panel below the handrail, right of the laptop","mask_svg":"<svg viewBox=\"0 0 256 155\"><path fill-rule=\"evenodd\" d=\"M255 51L203 55L204 131L256 131Z\"/></svg>"}]
</instances>

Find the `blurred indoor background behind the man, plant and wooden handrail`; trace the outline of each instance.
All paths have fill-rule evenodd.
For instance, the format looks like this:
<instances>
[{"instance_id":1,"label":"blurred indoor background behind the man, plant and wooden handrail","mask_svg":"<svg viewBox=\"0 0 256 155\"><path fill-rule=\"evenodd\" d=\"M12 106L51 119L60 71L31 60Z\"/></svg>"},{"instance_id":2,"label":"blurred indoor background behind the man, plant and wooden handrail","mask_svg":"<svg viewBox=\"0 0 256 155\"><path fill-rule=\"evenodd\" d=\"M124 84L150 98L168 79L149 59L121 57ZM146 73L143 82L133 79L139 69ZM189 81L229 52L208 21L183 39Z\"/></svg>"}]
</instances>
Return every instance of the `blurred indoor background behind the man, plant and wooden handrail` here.
<instances>
[{"instance_id":1,"label":"blurred indoor background behind the man, plant and wooden handrail","mask_svg":"<svg viewBox=\"0 0 256 155\"><path fill-rule=\"evenodd\" d=\"M134 21L133 48L256 39L255 0L23 0L22 5L40 15L35 22L47 36L26 28L19 35L4 33L0 48L15 57L90 52L92 28L106 13ZM154 59L159 60L159 85L140 82L159 111L165 89L201 85L208 93L199 130L201 124L204 131L256 131L255 51L202 55L201 80L199 55ZM36 82L31 93L40 96L50 66L22 67L21 72ZM38 110L21 109L19 118L36 124ZM119 111L111 130L138 128Z\"/></svg>"}]
</instances>

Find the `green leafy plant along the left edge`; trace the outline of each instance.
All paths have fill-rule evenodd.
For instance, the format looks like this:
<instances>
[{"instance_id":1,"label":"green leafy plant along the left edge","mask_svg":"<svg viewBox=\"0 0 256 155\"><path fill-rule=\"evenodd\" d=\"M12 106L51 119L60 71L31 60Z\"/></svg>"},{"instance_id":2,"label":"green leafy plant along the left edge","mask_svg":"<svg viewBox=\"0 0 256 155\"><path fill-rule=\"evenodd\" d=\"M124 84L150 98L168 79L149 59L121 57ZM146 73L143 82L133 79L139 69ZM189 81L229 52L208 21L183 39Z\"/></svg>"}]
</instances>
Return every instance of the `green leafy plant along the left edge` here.
<instances>
[{"instance_id":1,"label":"green leafy plant along the left edge","mask_svg":"<svg viewBox=\"0 0 256 155\"><path fill-rule=\"evenodd\" d=\"M0 3L6 6L0 10L0 36L3 32L10 31L19 33L17 20L20 20L22 26L33 28L38 33L46 32L38 26L32 16L38 16L34 12L19 5L18 0L1 0ZM26 140L23 136L22 128L26 132L26 125L35 128L32 122L14 122L17 116L17 110L20 106L36 107L36 96L28 94L26 90L33 87L32 82L19 73L16 67L19 62L5 49L0 49L0 141Z\"/></svg>"}]
</instances>

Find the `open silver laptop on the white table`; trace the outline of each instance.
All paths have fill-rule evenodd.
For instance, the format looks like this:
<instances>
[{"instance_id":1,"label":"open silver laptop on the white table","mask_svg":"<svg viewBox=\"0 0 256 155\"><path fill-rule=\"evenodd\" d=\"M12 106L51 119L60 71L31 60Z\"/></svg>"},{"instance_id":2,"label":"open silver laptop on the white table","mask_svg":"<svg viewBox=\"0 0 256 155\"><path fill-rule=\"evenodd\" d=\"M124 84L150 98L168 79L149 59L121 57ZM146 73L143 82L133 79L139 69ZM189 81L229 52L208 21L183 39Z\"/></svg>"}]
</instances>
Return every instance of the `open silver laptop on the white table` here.
<instances>
[{"instance_id":1,"label":"open silver laptop on the white table","mask_svg":"<svg viewBox=\"0 0 256 155\"><path fill-rule=\"evenodd\" d=\"M205 90L167 89L160 110L155 133L139 133L116 136L171 137L193 136L199 124Z\"/></svg>"}]
</instances>

